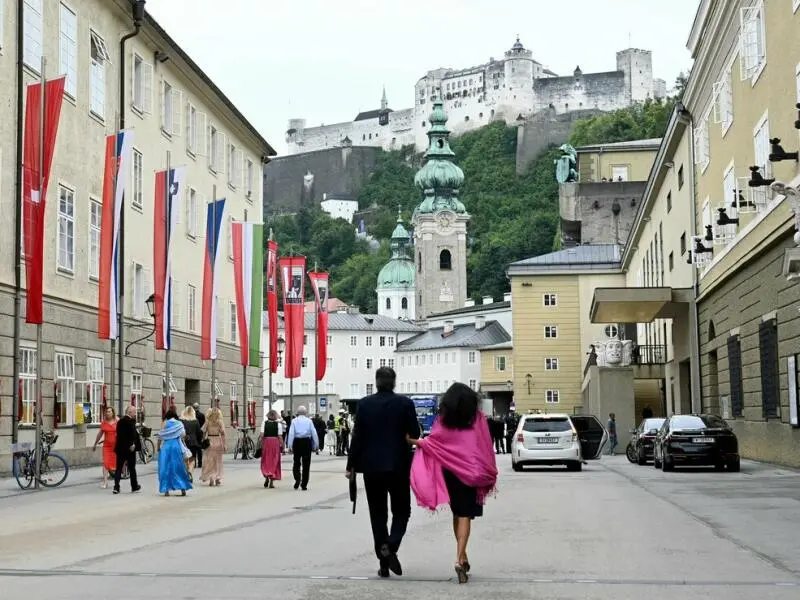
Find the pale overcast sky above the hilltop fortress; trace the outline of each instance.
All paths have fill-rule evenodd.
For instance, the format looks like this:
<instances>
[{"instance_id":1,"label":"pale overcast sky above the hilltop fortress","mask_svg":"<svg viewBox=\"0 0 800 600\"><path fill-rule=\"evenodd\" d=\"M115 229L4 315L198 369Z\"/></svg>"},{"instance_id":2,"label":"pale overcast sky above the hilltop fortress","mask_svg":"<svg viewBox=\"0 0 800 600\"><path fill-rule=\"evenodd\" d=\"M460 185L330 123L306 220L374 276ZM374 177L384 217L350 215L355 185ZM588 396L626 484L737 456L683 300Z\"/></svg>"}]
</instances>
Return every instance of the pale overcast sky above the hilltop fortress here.
<instances>
[{"instance_id":1,"label":"pale overcast sky above the hilltop fortress","mask_svg":"<svg viewBox=\"0 0 800 600\"><path fill-rule=\"evenodd\" d=\"M283 154L287 120L351 121L408 108L429 69L499 58L519 34L559 75L653 51L671 87L691 64L697 0L148 0L147 10Z\"/></svg>"}]
</instances>

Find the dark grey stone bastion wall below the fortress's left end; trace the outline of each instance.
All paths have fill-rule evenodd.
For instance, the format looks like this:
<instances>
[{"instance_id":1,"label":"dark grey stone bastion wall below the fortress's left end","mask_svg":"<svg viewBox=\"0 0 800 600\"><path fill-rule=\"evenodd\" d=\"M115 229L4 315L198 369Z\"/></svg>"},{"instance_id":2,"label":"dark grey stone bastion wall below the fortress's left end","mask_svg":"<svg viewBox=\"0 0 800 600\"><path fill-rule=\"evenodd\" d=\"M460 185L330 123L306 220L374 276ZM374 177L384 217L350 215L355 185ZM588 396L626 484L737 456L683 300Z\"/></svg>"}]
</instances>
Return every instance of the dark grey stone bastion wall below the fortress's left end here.
<instances>
[{"instance_id":1,"label":"dark grey stone bastion wall below the fortress's left end","mask_svg":"<svg viewBox=\"0 0 800 600\"><path fill-rule=\"evenodd\" d=\"M264 167L264 215L297 212L319 206L324 195L358 197L375 170L380 148L353 146L330 148L273 159ZM304 193L304 178L314 176L310 192Z\"/></svg>"}]
</instances>

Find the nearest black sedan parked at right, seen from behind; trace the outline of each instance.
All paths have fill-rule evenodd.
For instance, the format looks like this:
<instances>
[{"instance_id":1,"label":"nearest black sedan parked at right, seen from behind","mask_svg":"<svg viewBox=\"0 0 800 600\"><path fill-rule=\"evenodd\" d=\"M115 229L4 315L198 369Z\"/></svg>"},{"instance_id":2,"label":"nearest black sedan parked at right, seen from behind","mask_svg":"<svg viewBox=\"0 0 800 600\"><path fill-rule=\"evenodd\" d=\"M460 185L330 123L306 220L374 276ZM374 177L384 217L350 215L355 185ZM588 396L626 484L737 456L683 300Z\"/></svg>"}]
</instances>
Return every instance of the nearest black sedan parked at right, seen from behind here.
<instances>
[{"instance_id":1,"label":"nearest black sedan parked at right, seen from behind","mask_svg":"<svg viewBox=\"0 0 800 600\"><path fill-rule=\"evenodd\" d=\"M664 471L678 465L738 471L739 440L715 415L675 415L664 422L656 436L653 464Z\"/></svg>"}]
</instances>

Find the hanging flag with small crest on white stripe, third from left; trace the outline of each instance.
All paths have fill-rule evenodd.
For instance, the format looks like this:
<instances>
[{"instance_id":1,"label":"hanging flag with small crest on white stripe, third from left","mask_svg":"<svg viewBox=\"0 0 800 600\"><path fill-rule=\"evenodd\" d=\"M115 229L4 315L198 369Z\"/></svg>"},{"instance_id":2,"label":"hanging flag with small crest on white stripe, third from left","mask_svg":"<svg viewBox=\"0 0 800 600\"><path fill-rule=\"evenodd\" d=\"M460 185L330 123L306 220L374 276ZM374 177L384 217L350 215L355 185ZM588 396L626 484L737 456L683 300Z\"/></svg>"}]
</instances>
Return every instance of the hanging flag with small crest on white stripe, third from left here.
<instances>
[{"instance_id":1,"label":"hanging flag with small crest on white stripe, third from left","mask_svg":"<svg viewBox=\"0 0 800 600\"><path fill-rule=\"evenodd\" d=\"M186 167L156 172L153 203L153 284L155 287L156 350L172 345L172 253Z\"/></svg>"}]
</instances>

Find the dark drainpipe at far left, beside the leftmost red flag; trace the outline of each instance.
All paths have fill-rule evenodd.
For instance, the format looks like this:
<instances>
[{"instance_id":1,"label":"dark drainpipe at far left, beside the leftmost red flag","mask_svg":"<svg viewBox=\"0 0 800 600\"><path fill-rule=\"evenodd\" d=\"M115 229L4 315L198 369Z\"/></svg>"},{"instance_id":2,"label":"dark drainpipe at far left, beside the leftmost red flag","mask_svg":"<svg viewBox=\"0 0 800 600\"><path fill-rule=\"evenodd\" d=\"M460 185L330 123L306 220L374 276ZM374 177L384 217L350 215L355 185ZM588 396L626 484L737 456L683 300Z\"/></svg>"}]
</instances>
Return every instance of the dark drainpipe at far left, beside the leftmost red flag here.
<instances>
[{"instance_id":1,"label":"dark drainpipe at far left, beside the leftmost red flag","mask_svg":"<svg viewBox=\"0 0 800 600\"><path fill-rule=\"evenodd\" d=\"M25 127L23 93L25 73L23 69L24 8L17 2L17 164L14 181L14 379L11 384L11 443L16 444L19 434L19 342L20 304L22 299L22 132Z\"/></svg>"}]
</instances>

